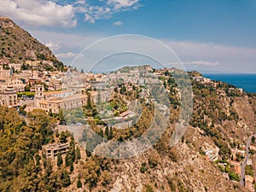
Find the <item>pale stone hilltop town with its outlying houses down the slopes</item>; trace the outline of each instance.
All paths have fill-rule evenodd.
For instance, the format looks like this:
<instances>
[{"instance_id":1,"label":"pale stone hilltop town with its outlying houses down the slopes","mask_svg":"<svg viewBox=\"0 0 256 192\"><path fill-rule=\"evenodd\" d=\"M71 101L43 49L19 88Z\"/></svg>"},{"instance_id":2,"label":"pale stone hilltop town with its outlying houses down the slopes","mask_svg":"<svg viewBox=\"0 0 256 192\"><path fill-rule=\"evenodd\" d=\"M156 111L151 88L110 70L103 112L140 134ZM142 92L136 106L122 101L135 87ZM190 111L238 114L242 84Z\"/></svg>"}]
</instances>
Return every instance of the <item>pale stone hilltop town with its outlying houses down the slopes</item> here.
<instances>
[{"instance_id":1,"label":"pale stone hilltop town with its outlying houses down the slopes","mask_svg":"<svg viewBox=\"0 0 256 192\"><path fill-rule=\"evenodd\" d=\"M123 68L113 73L79 73L72 67L64 67L64 70L57 70L53 66L52 61L11 63L7 59L1 60L0 67L1 105L8 108L16 108L18 111L25 111L25 113L30 113L35 109L41 109L50 115L58 115L65 110L83 108L87 105L88 99L99 105L99 100L101 103L113 101L113 95L116 92L125 94L126 96L132 96L135 92L138 94L138 90L140 90L140 93L136 98L150 103L152 101L150 100L150 96L147 96L148 90L142 89L147 84L159 82L160 79L161 84L166 82L164 86L168 93L172 93L173 91L178 92L178 89L175 88L175 81L172 82L172 78L172 80L166 79L169 74L175 73L176 69L155 70L152 67L146 66L135 69ZM44 67L52 67L55 70L45 70ZM136 76L137 73L141 73L141 69L147 73L151 73L154 78ZM70 79L71 73L73 75ZM216 91L218 96L227 96L230 94L242 96L244 94L241 89L236 89L230 85L225 86L223 83L212 81L211 79L205 79L200 74L190 73L189 76L194 84L212 89ZM116 86L113 85L114 83ZM130 94L127 95L127 93ZM105 120L105 123L108 124L111 121L111 125L118 126L119 122L122 122L122 124L128 122L129 125L129 121L136 115L135 112L132 112L128 108L127 103L129 101L127 98L122 98L125 103L123 104L126 107L117 110L111 109L110 112L106 110L98 112L101 113L101 119ZM107 116L108 119L106 119ZM95 116L92 116L92 118L96 119ZM59 121L61 125L58 129L59 131L68 130L65 127L68 125L77 125L77 129L81 129L82 125L87 124L86 119L88 119L86 115L84 119L76 119L76 117L68 119L64 117L64 123ZM205 120L207 121L207 117L205 117ZM113 121L116 123L113 123ZM102 126L102 130L106 131L104 126ZM81 132L79 134L79 136L74 135L78 142L81 140ZM256 158L253 154L256 153L256 143L255 137L251 137L251 139L253 141L249 144L247 143L247 146L246 140L240 140L238 143L234 141L230 145L230 152L228 152L230 154L226 158L219 156L221 153L219 147L212 147L211 144L204 143L200 147L201 155L205 160L212 161L220 172L223 172L224 177L241 183L248 190L253 191L255 179L253 166L256 163ZM62 151L61 154L65 156L68 152L68 146L68 143L49 144L43 146L45 148L43 151L46 156L54 160L57 156L57 151ZM47 154L47 151L49 151L49 154Z\"/></svg>"}]
</instances>

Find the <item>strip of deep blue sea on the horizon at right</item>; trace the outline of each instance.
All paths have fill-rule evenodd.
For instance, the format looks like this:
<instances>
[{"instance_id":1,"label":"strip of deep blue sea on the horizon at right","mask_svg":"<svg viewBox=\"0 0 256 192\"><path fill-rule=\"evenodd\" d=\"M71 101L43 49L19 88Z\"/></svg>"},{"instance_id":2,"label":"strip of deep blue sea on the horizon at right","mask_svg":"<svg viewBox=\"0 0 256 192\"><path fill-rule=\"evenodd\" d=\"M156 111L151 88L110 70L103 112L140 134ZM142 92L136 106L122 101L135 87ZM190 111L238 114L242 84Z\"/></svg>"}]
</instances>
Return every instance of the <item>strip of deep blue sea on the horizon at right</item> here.
<instances>
[{"instance_id":1,"label":"strip of deep blue sea on the horizon at right","mask_svg":"<svg viewBox=\"0 0 256 192\"><path fill-rule=\"evenodd\" d=\"M256 74L203 74L205 78L233 84L247 92L256 93Z\"/></svg>"}]
</instances>

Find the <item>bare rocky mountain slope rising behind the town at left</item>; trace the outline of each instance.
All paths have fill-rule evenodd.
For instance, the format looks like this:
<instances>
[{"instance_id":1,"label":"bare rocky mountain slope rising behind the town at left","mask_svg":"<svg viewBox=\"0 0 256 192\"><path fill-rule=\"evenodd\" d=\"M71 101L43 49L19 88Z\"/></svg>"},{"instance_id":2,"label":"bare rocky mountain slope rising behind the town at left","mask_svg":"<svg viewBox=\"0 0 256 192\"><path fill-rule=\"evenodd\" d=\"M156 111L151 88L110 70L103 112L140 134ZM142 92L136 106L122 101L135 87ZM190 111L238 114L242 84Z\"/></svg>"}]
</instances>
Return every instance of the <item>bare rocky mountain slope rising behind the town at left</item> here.
<instances>
[{"instance_id":1,"label":"bare rocky mountain slope rising behind the town at left","mask_svg":"<svg viewBox=\"0 0 256 192\"><path fill-rule=\"evenodd\" d=\"M0 17L0 59L10 61L49 60L57 61L49 48L17 26L9 17Z\"/></svg>"}]
</instances>

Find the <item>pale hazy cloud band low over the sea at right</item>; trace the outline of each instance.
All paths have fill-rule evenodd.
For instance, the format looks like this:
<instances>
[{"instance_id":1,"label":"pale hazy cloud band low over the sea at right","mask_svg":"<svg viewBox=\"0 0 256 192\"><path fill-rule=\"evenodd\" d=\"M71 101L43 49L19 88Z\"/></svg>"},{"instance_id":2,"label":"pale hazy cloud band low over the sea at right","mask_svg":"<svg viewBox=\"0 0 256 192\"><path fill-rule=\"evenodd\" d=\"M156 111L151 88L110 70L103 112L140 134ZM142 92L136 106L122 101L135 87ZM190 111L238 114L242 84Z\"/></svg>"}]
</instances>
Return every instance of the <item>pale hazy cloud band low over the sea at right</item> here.
<instances>
[{"instance_id":1,"label":"pale hazy cloud band low over the sea at right","mask_svg":"<svg viewBox=\"0 0 256 192\"><path fill-rule=\"evenodd\" d=\"M253 48L170 40L162 40L162 42L167 44L181 61L209 61L212 63L206 63L207 66L194 65L198 69L207 67L224 73L256 73L256 49Z\"/></svg>"}]
</instances>

